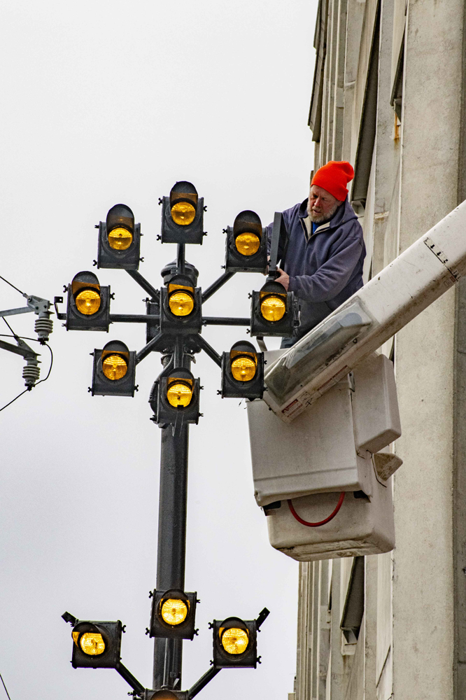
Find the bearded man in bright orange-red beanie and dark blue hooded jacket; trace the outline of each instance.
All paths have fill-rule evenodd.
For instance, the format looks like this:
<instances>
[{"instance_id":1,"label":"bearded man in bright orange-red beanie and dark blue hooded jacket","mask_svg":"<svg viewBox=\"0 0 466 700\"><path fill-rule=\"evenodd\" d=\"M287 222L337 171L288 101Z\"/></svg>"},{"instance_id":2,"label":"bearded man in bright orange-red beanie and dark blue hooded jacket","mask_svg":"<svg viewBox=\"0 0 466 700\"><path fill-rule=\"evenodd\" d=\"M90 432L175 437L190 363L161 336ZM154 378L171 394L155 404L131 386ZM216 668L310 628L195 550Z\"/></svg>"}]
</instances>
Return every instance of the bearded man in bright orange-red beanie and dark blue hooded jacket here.
<instances>
[{"instance_id":1,"label":"bearded man in bright orange-red beanie and dark blue hooded jacket","mask_svg":"<svg viewBox=\"0 0 466 700\"><path fill-rule=\"evenodd\" d=\"M309 198L283 211L276 281L299 297L301 324L281 347L291 347L362 287L366 248L346 188L353 177L348 162L330 160L313 176Z\"/></svg>"}]
</instances>

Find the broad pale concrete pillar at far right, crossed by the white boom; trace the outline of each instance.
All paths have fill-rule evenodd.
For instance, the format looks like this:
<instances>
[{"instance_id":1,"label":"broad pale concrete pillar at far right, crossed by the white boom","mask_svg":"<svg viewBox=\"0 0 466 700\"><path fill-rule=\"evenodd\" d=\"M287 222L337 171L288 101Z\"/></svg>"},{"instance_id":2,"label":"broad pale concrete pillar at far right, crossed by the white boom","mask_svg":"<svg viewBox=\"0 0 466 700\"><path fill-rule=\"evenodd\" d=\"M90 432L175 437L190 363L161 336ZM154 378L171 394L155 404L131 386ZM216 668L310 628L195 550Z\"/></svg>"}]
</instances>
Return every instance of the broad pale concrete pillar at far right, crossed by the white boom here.
<instances>
[{"instance_id":1,"label":"broad pale concrete pillar at far right, crossed by the white boom","mask_svg":"<svg viewBox=\"0 0 466 700\"><path fill-rule=\"evenodd\" d=\"M408 5L400 250L457 204L462 13L460 0ZM451 290L397 337L403 436L396 451L408 468L395 475L395 697L453 697L454 329Z\"/></svg>"}]
</instances>

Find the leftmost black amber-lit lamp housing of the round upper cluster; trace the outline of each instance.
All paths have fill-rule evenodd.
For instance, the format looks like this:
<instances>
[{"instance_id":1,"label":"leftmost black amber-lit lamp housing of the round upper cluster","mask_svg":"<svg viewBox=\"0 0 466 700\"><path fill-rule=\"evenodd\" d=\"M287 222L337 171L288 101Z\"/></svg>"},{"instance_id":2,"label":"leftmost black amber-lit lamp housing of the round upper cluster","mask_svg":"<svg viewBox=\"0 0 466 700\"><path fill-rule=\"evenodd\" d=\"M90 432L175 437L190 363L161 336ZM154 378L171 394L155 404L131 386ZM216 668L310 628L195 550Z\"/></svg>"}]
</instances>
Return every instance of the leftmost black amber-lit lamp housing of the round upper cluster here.
<instances>
[{"instance_id":1,"label":"leftmost black amber-lit lamp housing of the round upper cluster","mask_svg":"<svg viewBox=\"0 0 466 700\"><path fill-rule=\"evenodd\" d=\"M110 325L110 287L94 272L78 272L68 285L66 330L105 330Z\"/></svg>"}]
</instances>

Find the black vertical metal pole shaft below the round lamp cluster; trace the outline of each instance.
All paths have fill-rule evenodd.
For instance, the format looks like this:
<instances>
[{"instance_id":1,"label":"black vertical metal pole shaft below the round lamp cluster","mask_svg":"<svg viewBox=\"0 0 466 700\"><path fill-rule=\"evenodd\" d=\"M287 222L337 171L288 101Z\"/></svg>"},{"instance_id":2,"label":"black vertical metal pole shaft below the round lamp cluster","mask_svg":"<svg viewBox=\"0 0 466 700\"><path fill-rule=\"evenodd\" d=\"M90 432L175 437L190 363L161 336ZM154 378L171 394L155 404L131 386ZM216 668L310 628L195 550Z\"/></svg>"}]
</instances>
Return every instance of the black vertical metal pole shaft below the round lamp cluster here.
<instances>
[{"instance_id":1,"label":"black vertical metal pole shaft below the round lamp cluster","mask_svg":"<svg viewBox=\"0 0 466 700\"><path fill-rule=\"evenodd\" d=\"M188 425L178 435L172 426L162 428L157 591L185 588L188 439ZM155 638L154 689L181 689L182 654L183 640Z\"/></svg>"}]
</instances>

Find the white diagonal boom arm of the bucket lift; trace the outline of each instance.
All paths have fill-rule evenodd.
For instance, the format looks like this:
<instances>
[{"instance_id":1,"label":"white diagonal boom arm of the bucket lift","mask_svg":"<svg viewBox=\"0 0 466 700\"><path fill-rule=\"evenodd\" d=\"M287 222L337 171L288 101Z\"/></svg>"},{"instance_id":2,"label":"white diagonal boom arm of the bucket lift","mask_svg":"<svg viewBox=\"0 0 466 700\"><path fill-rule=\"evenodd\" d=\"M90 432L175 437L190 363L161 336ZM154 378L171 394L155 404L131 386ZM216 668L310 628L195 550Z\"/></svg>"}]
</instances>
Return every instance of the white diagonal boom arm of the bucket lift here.
<instances>
[{"instance_id":1,"label":"white diagonal boom arm of the bucket lift","mask_svg":"<svg viewBox=\"0 0 466 700\"><path fill-rule=\"evenodd\" d=\"M465 272L463 202L285 351L265 373L264 401L290 423Z\"/></svg>"}]
</instances>

